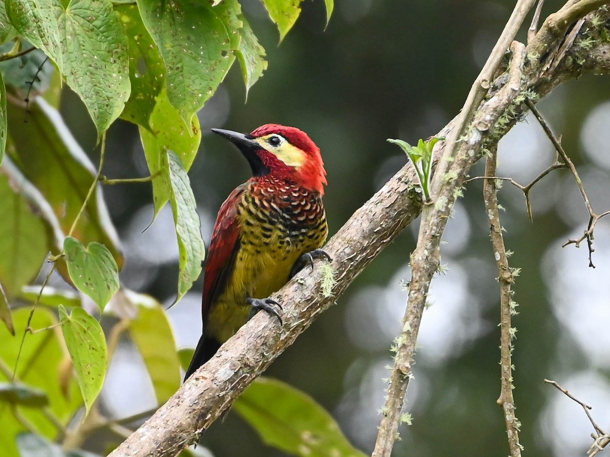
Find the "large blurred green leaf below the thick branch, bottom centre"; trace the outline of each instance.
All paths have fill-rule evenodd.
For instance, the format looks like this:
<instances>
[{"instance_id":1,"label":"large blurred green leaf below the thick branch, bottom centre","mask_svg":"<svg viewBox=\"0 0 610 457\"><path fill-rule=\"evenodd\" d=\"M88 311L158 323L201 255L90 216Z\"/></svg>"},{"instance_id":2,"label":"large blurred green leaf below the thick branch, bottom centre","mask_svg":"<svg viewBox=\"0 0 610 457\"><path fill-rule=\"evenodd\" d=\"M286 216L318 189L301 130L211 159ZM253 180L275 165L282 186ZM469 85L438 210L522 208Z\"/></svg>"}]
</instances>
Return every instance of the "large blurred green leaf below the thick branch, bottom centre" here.
<instances>
[{"instance_id":1,"label":"large blurred green leaf below the thick branch, bottom centre","mask_svg":"<svg viewBox=\"0 0 610 457\"><path fill-rule=\"evenodd\" d=\"M309 395L270 378L258 378L233 409L262 440L292 455L364 457L339 430L332 416Z\"/></svg>"}]
</instances>

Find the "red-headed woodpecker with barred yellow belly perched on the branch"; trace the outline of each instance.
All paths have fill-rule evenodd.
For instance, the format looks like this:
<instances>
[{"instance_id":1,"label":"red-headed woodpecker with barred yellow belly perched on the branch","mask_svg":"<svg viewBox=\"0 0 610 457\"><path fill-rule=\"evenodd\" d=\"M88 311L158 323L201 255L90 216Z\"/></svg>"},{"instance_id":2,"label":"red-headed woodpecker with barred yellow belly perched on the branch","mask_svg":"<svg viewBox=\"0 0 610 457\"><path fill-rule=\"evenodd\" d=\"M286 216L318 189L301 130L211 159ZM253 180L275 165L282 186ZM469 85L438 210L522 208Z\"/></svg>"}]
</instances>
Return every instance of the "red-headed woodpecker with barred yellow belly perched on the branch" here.
<instances>
[{"instance_id":1,"label":"red-headed woodpecker with barred yellow belly perched on the branch","mask_svg":"<svg viewBox=\"0 0 610 457\"><path fill-rule=\"evenodd\" d=\"M326 257L322 204L326 171L320 149L294 127L265 124L251 134L212 129L240 149L252 178L218 211L204 272L203 334L185 380L212 358L256 311L276 316L267 298L308 262Z\"/></svg>"}]
</instances>

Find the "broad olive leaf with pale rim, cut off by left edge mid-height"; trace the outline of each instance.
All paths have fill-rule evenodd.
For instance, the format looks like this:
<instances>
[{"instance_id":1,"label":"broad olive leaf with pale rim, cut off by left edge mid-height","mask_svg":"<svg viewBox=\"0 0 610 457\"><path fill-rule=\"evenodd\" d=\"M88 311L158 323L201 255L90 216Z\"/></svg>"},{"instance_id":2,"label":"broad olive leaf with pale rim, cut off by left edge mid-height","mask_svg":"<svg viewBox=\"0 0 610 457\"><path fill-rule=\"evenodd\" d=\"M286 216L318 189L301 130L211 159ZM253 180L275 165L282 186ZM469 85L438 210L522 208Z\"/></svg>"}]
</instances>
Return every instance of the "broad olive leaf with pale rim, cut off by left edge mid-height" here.
<instances>
[{"instance_id":1,"label":"broad olive leaf with pale rim, cut off by left edge mid-height","mask_svg":"<svg viewBox=\"0 0 610 457\"><path fill-rule=\"evenodd\" d=\"M35 278L63 234L43 196L9 157L0 167L0 281L9 300Z\"/></svg>"}]
</instances>

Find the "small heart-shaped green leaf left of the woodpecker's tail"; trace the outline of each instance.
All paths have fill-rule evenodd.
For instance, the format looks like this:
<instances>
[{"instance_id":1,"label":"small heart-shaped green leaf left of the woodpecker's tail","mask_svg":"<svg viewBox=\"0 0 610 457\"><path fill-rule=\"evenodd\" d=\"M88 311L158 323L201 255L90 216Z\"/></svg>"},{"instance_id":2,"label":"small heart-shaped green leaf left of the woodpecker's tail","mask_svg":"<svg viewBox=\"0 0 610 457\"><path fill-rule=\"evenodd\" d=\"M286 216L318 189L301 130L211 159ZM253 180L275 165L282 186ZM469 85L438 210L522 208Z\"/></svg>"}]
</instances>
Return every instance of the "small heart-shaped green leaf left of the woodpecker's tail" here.
<instances>
[{"instance_id":1,"label":"small heart-shaped green leaf left of the woodpecker's tail","mask_svg":"<svg viewBox=\"0 0 610 457\"><path fill-rule=\"evenodd\" d=\"M82 293L104 307L119 287L117 262L106 246L91 242L85 246L76 238L66 237L63 241L66 264L70 279Z\"/></svg>"}]
</instances>

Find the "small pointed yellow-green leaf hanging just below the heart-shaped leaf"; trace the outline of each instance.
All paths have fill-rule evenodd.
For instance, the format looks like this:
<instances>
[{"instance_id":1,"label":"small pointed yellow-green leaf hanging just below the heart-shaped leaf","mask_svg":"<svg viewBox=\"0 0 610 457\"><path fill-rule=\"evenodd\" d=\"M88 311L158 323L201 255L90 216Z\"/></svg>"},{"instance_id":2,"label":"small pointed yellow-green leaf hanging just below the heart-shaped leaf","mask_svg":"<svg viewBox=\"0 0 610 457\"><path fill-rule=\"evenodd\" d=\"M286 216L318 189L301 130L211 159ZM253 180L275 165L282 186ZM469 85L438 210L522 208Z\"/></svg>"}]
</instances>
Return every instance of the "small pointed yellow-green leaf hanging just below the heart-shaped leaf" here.
<instances>
[{"instance_id":1,"label":"small pointed yellow-green leaf hanging just below the heart-shaped leaf","mask_svg":"<svg viewBox=\"0 0 610 457\"><path fill-rule=\"evenodd\" d=\"M108 360L104 331L98 320L82 308L74 308L68 316L66 309L59 305L59 317L88 412L102 390L106 376Z\"/></svg>"}]
</instances>

